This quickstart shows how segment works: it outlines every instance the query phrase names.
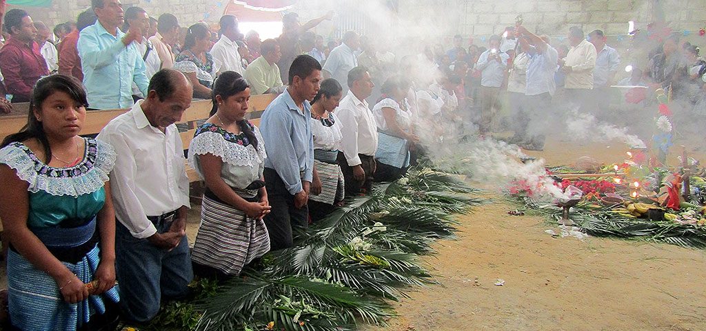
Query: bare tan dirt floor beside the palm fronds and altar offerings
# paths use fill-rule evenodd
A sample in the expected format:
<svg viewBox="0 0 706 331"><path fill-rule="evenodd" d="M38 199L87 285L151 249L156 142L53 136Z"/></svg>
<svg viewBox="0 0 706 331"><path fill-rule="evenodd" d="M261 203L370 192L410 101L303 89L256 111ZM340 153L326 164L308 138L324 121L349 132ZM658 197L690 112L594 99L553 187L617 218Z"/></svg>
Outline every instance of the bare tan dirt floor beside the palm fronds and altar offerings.
<svg viewBox="0 0 706 331"><path fill-rule="evenodd" d="M549 141L528 154L559 165L583 155L618 162L626 150ZM458 217L457 241L436 243L437 254L424 258L439 284L410 292L388 327L364 330L706 330L705 251L554 239L544 217L510 216L516 205L489 197L491 205Z"/></svg>

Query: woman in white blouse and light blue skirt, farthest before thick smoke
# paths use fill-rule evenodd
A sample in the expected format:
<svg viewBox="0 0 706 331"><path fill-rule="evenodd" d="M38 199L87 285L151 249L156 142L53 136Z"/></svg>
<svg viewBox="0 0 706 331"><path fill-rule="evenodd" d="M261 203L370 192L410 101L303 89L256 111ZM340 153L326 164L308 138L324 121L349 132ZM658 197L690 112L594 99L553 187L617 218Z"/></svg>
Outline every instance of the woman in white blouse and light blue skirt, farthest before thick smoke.
<svg viewBox="0 0 706 331"><path fill-rule="evenodd" d="M373 107L373 115L378 124L376 181L394 181L404 176L409 167L409 148L419 143L412 129L412 113L405 107L407 90L404 86L399 76L385 80L381 88L381 100Z"/></svg>

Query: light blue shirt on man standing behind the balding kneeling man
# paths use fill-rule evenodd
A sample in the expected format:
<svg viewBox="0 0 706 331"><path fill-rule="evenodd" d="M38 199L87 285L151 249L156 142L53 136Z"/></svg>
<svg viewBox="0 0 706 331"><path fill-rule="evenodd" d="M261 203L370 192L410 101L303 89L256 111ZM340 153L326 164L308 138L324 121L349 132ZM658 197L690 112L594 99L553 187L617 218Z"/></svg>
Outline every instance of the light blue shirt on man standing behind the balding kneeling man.
<svg viewBox="0 0 706 331"><path fill-rule="evenodd" d="M90 25L78 37L78 56L83 67L83 85L88 92L88 106L96 109L132 107L132 84L147 95L150 84L145 73L145 61L133 42L125 47L125 35L116 35L100 22Z"/></svg>

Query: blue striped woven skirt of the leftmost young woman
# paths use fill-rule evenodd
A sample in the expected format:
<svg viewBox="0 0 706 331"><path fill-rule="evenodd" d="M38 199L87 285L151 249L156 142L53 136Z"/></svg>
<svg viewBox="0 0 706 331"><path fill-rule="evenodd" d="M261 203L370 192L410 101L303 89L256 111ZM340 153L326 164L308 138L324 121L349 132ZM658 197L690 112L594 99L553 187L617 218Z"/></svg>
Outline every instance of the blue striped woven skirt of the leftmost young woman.
<svg viewBox="0 0 706 331"><path fill-rule="evenodd" d="M76 264L62 263L88 284L100 263L100 249L95 246ZM7 282L10 318L20 330L76 330L93 315L105 313L106 300L119 301L117 287L113 287L79 303L66 303L54 278L12 250L7 254Z"/></svg>

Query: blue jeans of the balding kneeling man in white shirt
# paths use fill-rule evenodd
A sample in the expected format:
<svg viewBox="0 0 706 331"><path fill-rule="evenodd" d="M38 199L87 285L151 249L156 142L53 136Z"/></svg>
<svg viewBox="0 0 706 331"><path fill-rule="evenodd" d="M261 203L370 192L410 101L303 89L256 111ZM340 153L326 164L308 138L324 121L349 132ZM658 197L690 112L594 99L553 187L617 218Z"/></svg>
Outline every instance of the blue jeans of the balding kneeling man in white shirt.
<svg viewBox="0 0 706 331"><path fill-rule="evenodd" d="M166 222L155 227L162 234L171 225ZM147 239L133 237L123 224L116 222L115 256L120 308L126 320L148 322L160 312L162 296L179 299L189 294L193 270L186 236L168 252Z"/></svg>

